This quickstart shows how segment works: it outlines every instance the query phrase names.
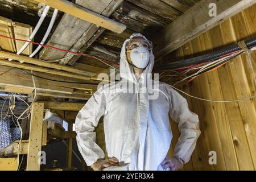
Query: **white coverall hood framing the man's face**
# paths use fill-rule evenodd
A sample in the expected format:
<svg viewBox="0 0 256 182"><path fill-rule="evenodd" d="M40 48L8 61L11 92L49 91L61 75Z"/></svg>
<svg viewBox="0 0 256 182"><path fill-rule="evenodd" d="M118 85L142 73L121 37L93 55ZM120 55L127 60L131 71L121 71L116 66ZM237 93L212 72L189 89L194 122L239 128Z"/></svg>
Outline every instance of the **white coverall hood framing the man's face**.
<svg viewBox="0 0 256 182"><path fill-rule="evenodd" d="M142 35L140 33L134 33L133 35L130 36L129 39L126 39L125 42L123 42L123 47L122 47L122 50L120 53L120 57L121 57L120 58L120 76L122 79L130 80L133 82L137 82L137 80L134 76L133 66L131 64L129 64L127 61L125 47L126 47L127 42L129 42L132 38L137 37L137 36L141 36L142 38L147 40L147 38L144 35ZM141 77L149 77L150 76L150 73L152 72L152 69L154 67L154 63L155 63L155 56L153 55L153 52L151 50L150 51L150 60L148 61L148 65L144 69Z"/></svg>

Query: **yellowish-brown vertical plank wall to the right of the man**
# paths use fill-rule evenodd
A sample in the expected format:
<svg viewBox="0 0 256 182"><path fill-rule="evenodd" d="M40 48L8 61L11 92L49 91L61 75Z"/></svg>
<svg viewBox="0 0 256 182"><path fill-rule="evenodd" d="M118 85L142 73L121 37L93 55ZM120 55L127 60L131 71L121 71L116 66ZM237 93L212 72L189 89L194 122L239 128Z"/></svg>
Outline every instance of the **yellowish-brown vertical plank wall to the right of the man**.
<svg viewBox="0 0 256 182"><path fill-rule="evenodd" d="M256 5L172 52L169 61L194 57L256 36ZM256 72L256 52L251 53ZM163 60L164 63L167 60ZM237 100L256 95L253 72L245 54L216 71L204 73L180 88L209 100ZM185 97L199 114L201 136L185 170L256 169L256 98L241 102L212 103ZM179 132L171 122L175 146ZM172 155L173 147L169 155ZM217 164L210 165L209 151L217 152Z"/></svg>

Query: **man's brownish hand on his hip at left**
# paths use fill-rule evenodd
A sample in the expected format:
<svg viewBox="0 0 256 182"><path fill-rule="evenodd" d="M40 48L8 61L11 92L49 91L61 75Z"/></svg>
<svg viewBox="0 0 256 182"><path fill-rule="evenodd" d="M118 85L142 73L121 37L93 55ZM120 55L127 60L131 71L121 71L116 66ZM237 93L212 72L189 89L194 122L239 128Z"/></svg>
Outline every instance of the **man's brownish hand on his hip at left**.
<svg viewBox="0 0 256 182"><path fill-rule="evenodd" d="M102 171L102 169L110 166L119 166L118 159L115 157L109 159L98 159L95 163L92 164L94 171Z"/></svg>

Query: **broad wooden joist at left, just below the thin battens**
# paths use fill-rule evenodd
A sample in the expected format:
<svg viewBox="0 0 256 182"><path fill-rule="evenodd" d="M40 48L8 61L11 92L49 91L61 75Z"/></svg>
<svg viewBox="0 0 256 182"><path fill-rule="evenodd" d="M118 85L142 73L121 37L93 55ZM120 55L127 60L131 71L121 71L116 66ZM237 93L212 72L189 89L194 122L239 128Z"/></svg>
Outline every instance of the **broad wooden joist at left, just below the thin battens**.
<svg viewBox="0 0 256 182"><path fill-rule="evenodd" d="M35 73L37 76L42 76ZM46 73L44 73L45 77ZM51 77L48 77L51 78ZM77 98L88 100L97 90L97 85L57 82L34 77L36 91L40 96L61 98ZM72 80L71 80L72 81ZM76 81L76 80L73 80ZM3 92L15 92L23 94L34 93L32 77L11 67L0 67L0 90Z"/></svg>

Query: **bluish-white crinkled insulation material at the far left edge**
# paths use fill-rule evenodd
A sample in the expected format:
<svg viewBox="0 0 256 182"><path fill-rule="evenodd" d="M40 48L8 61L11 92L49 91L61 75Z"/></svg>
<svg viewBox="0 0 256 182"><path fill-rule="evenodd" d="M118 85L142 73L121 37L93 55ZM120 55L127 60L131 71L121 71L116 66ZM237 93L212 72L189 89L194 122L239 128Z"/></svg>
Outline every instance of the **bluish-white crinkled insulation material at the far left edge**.
<svg viewBox="0 0 256 182"><path fill-rule="evenodd" d="M10 122L0 122L0 150L11 143Z"/></svg>

